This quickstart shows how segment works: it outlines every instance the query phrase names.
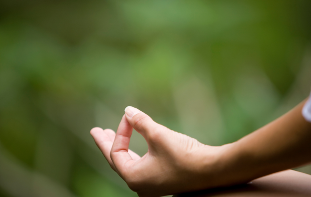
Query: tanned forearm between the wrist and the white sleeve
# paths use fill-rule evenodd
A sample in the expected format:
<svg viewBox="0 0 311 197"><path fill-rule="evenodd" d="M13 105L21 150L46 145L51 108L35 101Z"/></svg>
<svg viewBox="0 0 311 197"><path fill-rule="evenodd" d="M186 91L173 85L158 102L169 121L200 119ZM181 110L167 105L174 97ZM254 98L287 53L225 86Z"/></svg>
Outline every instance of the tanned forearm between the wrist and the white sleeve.
<svg viewBox="0 0 311 197"><path fill-rule="evenodd" d="M263 128L227 146L218 168L233 185L311 162L311 123L302 116L305 101Z"/></svg>

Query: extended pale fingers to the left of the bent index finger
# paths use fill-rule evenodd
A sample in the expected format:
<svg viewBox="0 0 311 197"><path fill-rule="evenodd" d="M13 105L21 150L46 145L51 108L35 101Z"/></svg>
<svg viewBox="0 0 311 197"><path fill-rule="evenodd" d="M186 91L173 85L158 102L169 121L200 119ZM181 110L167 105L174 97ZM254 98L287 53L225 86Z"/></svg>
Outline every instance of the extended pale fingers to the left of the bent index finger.
<svg viewBox="0 0 311 197"><path fill-rule="evenodd" d="M113 140L111 139L111 136L114 135L112 134L112 132L114 131L109 130L109 129L102 130L101 128L98 128L98 127L95 127L90 131L92 137L94 138L96 145L103 153L104 157L110 164L111 168L113 168L116 171L116 167L110 157L110 152L111 152L111 148L113 145Z"/></svg>

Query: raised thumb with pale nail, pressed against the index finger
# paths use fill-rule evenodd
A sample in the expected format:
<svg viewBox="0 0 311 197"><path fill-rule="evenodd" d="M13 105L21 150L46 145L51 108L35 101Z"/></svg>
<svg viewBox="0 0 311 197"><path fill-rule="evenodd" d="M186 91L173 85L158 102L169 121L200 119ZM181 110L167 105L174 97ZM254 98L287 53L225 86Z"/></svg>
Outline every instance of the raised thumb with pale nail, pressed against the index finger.
<svg viewBox="0 0 311 197"><path fill-rule="evenodd" d="M147 140L153 140L161 136L166 127L157 124L147 114L135 107L128 106L125 108L125 117L128 123Z"/></svg>

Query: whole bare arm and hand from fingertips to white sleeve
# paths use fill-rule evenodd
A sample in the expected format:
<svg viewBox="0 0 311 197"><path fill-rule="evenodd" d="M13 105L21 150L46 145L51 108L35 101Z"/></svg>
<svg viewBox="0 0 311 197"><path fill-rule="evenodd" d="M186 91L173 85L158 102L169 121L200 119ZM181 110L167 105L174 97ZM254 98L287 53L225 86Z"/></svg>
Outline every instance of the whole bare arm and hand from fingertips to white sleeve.
<svg viewBox="0 0 311 197"><path fill-rule="evenodd" d="M117 129L91 135L110 166L139 197L160 197L246 183L311 162L311 123L301 115L305 101L261 129L223 146L208 146L157 124L127 107ZM133 129L149 150L128 149Z"/></svg>

